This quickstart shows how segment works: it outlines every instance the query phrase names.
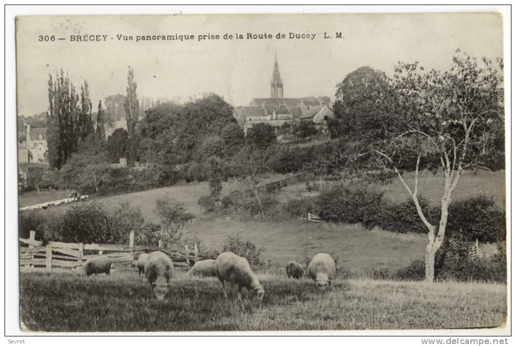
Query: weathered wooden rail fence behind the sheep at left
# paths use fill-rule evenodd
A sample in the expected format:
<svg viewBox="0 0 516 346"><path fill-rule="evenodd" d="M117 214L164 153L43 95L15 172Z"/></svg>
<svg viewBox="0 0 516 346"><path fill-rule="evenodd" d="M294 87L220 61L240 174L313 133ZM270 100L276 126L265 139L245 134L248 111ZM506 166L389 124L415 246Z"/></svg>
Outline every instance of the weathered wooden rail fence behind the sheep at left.
<svg viewBox="0 0 516 346"><path fill-rule="evenodd" d="M36 233L30 231L28 239L19 238L20 243L28 246L20 246L20 266L44 267L47 271L53 268L72 269L82 266L89 258L99 255L111 259L115 268L131 267L135 261L135 251L162 251L170 256L177 269L189 269L190 266L199 260L197 245L192 250L185 246L185 249L165 248L162 241L157 247L146 245L134 245L134 232L129 234L129 245L120 244L83 244L83 243L61 243L50 241L43 246L43 242L35 240ZM96 252L96 253L93 253ZM104 253L106 252L106 253Z"/></svg>

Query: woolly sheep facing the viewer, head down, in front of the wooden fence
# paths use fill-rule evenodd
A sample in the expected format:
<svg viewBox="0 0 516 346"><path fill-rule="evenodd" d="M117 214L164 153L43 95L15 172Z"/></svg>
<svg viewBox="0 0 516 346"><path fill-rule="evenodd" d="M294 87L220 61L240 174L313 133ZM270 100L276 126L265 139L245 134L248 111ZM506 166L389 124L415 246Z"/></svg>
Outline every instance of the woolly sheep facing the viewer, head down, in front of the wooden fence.
<svg viewBox="0 0 516 346"><path fill-rule="evenodd" d="M154 297L157 300L165 299L170 286L170 279L174 275L172 259L161 251L153 251L149 254L144 270L145 276L151 284Z"/></svg>

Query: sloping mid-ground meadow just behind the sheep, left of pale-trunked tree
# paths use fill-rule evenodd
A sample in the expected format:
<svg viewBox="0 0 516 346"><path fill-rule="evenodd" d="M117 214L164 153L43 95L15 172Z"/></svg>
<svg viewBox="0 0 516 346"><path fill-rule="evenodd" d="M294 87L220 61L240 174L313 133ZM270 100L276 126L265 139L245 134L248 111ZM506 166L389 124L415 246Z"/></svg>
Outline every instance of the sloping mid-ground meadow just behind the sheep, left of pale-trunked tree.
<svg viewBox="0 0 516 346"><path fill-rule="evenodd" d="M229 235L239 234L256 246L265 248L263 258L284 268L288 261L301 260L303 250L309 256L330 253L337 266L349 274L386 269L390 273L423 259L428 238L424 234L397 234L367 230L361 225L316 223L307 220L288 222L238 221L229 218L200 220L184 228L197 235L204 245L221 249Z"/></svg>

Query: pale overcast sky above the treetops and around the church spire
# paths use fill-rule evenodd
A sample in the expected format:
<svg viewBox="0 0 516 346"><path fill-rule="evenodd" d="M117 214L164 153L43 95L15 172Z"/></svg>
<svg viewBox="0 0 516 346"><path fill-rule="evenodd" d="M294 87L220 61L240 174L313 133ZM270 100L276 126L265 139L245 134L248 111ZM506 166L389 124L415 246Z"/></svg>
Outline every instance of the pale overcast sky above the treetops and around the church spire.
<svg viewBox="0 0 516 346"><path fill-rule="evenodd" d="M276 39L277 33L286 39ZM289 39L290 32L315 39ZM324 32L332 39L324 39ZM336 39L342 32L343 39ZM223 40L224 33L272 34L264 40ZM39 35L54 42L39 42ZM71 42L71 35L107 35L101 42ZM132 35L119 41L117 34ZM193 34L188 41L135 42L137 35ZM198 41L198 35L219 40ZM66 40L57 40L66 38ZM17 21L18 113L48 108L47 80L62 68L99 99L125 95L127 66L134 68L138 97L180 98L214 92L233 106L270 96L277 54L285 97L330 96L346 74L370 66L392 74L397 61L418 60L447 70L456 48L477 56L503 56L502 17L489 13L41 16Z"/></svg>

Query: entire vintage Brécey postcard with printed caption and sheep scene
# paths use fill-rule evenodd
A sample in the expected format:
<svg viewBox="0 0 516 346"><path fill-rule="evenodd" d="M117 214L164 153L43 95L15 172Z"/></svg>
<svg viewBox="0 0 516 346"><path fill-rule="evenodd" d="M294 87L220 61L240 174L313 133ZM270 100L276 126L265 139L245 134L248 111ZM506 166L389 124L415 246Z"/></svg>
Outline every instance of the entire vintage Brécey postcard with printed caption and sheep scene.
<svg viewBox="0 0 516 346"><path fill-rule="evenodd" d="M20 331L510 333L507 20L16 16Z"/></svg>

